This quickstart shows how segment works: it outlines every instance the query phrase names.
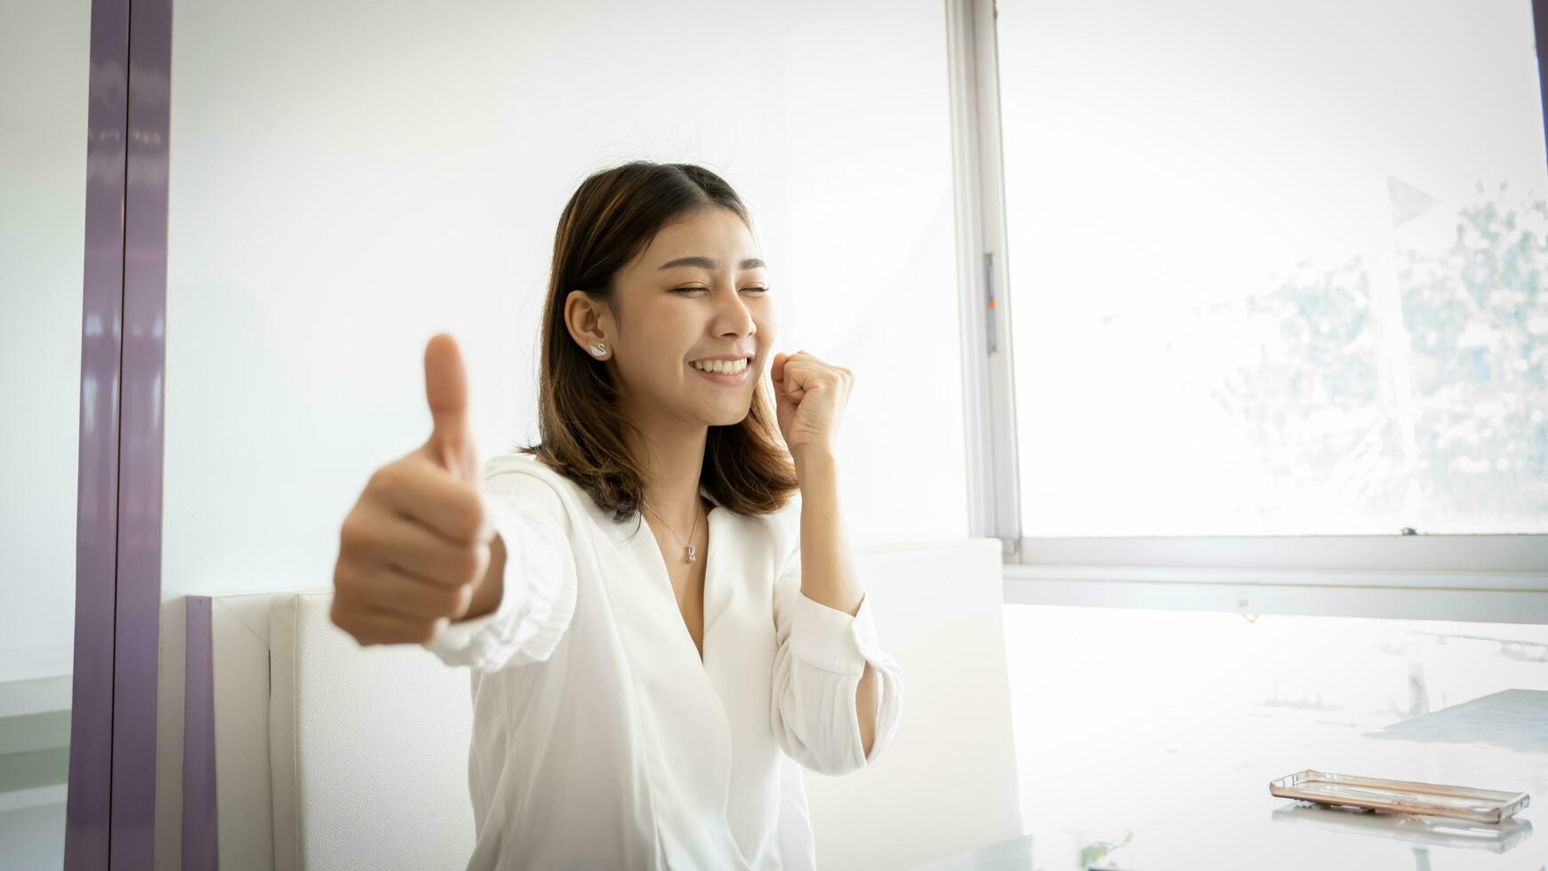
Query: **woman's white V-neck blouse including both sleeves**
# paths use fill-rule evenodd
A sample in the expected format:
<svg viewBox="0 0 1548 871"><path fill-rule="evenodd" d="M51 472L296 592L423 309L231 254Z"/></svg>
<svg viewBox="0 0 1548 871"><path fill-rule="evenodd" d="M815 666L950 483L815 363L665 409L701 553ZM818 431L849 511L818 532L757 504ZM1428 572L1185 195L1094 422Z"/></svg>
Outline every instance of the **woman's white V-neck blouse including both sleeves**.
<svg viewBox="0 0 1548 871"><path fill-rule="evenodd" d="M902 670L870 594L850 614L800 591L800 497L709 512L704 659L642 521L615 521L539 459L483 464L506 546L495 611L424 647L469 665L474 869L811 869L800 772L892 743ZM706 494L706 498L707 494ZM878 671L864 755L854 693Z"/></svg>

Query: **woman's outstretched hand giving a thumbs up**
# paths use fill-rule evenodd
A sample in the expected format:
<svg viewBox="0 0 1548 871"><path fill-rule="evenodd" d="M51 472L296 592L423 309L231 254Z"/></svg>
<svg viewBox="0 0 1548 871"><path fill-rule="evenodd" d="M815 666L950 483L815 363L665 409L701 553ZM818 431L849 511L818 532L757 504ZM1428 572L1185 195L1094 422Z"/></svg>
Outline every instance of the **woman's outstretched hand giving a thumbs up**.
<svg viewBox="0 0 1548 871"><path fill-rule="evenodd" d="M330 619L362 647L424 644L500 602L505 543L489 524L467 421L467 374L447 334L424 350L429 441L378 469L344 518Z"/></svg>

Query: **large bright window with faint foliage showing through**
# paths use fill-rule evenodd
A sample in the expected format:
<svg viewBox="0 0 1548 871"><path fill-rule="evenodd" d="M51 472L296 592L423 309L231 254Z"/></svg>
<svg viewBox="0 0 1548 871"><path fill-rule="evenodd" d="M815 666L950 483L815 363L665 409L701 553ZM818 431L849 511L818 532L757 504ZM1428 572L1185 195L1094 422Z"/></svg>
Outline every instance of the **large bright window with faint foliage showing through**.
<svg viewBox="0 0 1548 871"><path fill-rule="evenodd" d="M1529 3L966 5L1008 574L1548 591Z"/></svg>

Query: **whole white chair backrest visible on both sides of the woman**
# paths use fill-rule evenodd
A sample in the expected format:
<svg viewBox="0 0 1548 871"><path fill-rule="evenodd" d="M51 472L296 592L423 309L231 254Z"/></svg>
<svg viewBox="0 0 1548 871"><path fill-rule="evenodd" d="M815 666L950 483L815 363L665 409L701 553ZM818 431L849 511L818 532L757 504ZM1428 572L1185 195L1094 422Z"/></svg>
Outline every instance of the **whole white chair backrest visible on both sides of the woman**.
<svg viewBox="0 0 1548 871"><path fill-rule="evenodd" d="M856 565L907 695L875 767L800 769L817 866L902 868L1020 834L998 541ZM362 650L330 603L328 589L215 597L220 866L464 868L467 671L413 645Z"/></svg>

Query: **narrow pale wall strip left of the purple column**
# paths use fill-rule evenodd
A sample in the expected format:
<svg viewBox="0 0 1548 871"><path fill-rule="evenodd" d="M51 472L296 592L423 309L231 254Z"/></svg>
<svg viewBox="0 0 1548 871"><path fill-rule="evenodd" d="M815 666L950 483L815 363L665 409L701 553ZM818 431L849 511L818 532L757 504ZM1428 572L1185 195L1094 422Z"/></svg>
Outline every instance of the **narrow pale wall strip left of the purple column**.
<svg viewBox="0 0 1548 871"><path fill-rule="evenodd" d="M91 3L0 3L0 684L68 675Z"/></svg>

